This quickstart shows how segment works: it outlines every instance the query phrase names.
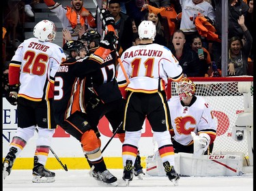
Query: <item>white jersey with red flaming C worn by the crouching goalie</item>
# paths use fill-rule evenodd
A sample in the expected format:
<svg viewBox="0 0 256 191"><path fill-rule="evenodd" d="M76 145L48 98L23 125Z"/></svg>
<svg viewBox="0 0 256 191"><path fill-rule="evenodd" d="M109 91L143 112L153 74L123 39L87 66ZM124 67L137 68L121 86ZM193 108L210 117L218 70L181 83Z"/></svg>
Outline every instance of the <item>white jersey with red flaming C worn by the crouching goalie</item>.
<svg viewBox="0 0 256 191"><path fill-rule="evenodd" d="M203 133L216 134L216 124L212 109L203 97L198 97L195 103L183 106L179 97L171 97L168 100L168 106L171 115L171 125L174 130L175 141L182 145L188 145L193 141L191 132L196 134L199 131Z"/></svg>

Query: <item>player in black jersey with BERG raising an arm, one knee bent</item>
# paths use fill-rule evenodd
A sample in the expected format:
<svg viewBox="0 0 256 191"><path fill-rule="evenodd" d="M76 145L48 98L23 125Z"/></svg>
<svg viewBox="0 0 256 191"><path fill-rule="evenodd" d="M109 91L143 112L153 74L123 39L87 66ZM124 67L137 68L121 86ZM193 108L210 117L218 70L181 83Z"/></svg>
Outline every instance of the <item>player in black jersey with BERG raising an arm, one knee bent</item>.
<svg viewBox="0 0 256 191"><path fill-rule="evenodd" d="M65 44L63 50L68 51L70 59L61 63L55 75L53 107L57 124L80 141L89 162L94 165L96 179L117 186L117 178L106 169L100 150L100 139L85 114L85 107L91 97L86 91L87 76L100 69L104 59L111 52L114 39L113 31L109 30L104 40L100 41L99 48L90 56L85 56L85 47L79 41L68 41ZM74 58L72 53L75 51L82 57Z"/></svg>

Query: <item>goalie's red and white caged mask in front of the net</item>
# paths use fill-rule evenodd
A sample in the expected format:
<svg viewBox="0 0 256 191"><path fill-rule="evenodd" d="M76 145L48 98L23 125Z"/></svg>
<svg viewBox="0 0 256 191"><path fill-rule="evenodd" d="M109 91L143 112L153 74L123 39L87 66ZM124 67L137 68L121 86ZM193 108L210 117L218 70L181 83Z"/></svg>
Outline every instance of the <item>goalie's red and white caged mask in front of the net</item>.
<svg viewBox="0 0 256 191"><path fill-rule="evenodd" d="M176 89L180 100L185 100L195 94L195 84L187 77L183 77L179 82L177 82Z"/></svg>

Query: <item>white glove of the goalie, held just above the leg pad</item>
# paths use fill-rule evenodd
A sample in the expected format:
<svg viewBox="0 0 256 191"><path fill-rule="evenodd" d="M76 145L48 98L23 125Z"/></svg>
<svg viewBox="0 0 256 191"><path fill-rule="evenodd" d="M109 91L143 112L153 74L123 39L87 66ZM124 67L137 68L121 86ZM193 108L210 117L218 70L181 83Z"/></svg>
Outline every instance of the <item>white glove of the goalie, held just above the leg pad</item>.
<svg viewBox="0 0 256 191"><path fill-rule="evenodd" d="M210 136L206 133L200 133L199 135L195 135L194 132L191 132L191 136L194 140L194 156L199 157L202 156L205 151L208 149L210 144Z"/></svg>

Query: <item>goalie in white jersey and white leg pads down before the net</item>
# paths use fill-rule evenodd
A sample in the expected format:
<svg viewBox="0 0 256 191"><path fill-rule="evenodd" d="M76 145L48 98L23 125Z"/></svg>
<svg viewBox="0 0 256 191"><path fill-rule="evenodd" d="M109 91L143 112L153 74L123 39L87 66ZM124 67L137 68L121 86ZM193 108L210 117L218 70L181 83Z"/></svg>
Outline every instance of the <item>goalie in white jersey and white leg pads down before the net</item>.
<svg viewBox="0 0 256 191"><path fill-rule="evenodd" d="M195 95L192 80L184 77L175 88L178 96L171 97L168 105L177 172L185 176L241 175L242 154L212 154L216 138L214 116L205 99ZM156 149L146 158L146 173L165 176L158 147L153 143Z"/></svg>

